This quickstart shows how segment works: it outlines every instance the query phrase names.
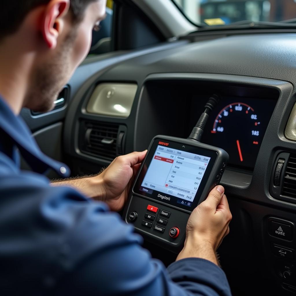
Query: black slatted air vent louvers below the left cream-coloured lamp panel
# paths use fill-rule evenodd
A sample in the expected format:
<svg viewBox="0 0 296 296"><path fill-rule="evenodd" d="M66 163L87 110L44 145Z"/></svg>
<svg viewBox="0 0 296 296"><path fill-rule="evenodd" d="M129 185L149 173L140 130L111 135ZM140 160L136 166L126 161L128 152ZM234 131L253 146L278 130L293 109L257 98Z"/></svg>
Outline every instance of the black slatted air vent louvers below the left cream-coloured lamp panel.
<svg viewBox="0 0 296 296"><path fill-rule="evenodd" d="M81 150L107 160L117 156L117 138L119 125L106 122L83 121L80 133Z"/></svg>

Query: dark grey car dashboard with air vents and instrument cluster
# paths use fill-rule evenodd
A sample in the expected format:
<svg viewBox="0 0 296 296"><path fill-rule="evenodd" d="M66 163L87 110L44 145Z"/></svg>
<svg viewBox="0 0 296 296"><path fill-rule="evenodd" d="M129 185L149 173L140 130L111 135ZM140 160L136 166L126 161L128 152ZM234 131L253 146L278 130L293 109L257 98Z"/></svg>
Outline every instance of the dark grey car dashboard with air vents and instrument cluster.
<svg viewBox="0 0 296 296"><path fill-rule="evenodd" d="M202 142L230 155L221 185L233 219L218 250L221 266L240 295L254 294L257 285L258 295L290 295L296 291L296 139L286 137L292 129L286 125L295 104L295 56L295 34L262 33L176 41L90 73L86 61L69 83L78 75L82 81L64 124L73 176L142 151L157 134L187 138L207 99L219 94ZM174 258L155 245L149 249L166 264Z"/></svg>

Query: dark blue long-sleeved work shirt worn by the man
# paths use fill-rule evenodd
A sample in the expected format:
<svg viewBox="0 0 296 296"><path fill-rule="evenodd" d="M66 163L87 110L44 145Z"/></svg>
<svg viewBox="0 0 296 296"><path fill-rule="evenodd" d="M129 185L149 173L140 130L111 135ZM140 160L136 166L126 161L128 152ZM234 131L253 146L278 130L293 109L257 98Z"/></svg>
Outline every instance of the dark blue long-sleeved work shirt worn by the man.
<svg viewBox="0 0 296 296"><path fill-rule="evenodd" d="M33 172L20 170L19 153ZM118 213L50 186L48 169L69 175L0 98L1 295L231 295L221 268L187 258L166 269Z"/></svg>

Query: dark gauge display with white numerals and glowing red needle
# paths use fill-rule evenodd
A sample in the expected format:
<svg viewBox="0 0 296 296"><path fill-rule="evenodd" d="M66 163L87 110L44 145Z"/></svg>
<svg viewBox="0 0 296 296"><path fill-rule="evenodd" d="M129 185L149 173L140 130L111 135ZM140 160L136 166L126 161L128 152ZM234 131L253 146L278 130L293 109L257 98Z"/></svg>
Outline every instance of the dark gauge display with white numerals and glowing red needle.
<svg viewBox="0 0 296 296"><path fill-rule="evenodd" d="M222 97L202 142L228 152L228 167L253 170L275 105L273 99Z"/></svg>

